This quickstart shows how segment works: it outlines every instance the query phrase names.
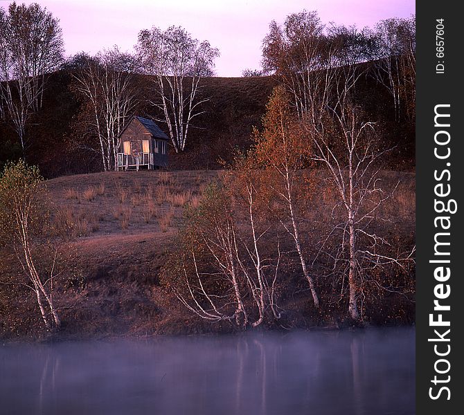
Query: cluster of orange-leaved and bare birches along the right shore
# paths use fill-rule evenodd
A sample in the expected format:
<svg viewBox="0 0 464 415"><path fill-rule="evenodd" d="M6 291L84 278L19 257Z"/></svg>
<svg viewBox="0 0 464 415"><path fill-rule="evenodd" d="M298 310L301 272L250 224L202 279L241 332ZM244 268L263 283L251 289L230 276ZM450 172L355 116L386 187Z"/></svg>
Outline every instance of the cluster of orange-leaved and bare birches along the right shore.
<svg viewBox="0 0 464 415"><path fill-rule="evenodd" d="M379 228L382 203L398 183L382 185L381 136L347 89L340 91L337 107L323 109L314 126L277 86L253 147L188 211L180 277L166 268L165 281L195 315L242 329L281 324L281 302L296 289L283 269L290 262L307 284L313 315L327 313L337 291L356 323L368 313L366 298L411 293L413 247L393 247ZM318 172L332 188L319 218L311 212ZM329 265L323 273L321 262Z"/></svg>

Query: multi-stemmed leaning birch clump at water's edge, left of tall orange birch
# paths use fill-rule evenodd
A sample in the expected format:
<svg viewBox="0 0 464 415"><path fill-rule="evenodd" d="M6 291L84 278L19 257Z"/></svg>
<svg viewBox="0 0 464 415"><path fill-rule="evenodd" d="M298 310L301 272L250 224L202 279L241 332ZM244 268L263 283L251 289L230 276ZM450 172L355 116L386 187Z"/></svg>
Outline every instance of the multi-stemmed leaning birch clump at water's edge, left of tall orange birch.
<svg viewBox="0 0 464 415"><path fill-rule="evenodd" d="M213 184L199 208L190 210L183 232L185 253L181 264L169 264L166 279L195 315L209 322L232 322L244 329L259 326L268 315L280 317L276 304L280 250L278 247L274 261L262 253L253 199L251 208L247 205L247 211L242 212L251 218L250 226L240 229L231 196L225 186ZM250 232L251 238L247 237ZM176 268L177 277L172 273ZM271 275L269 268L274 269Z"/></svg>

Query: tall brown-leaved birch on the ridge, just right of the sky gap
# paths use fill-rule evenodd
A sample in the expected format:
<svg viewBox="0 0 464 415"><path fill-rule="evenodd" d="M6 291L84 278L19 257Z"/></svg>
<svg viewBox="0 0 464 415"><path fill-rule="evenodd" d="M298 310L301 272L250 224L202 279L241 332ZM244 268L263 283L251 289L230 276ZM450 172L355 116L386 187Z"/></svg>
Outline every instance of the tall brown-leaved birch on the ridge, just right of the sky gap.
<svg viewBox="0 0 464 415"><path fill-rule="evenodd" d="M317 12L288 15L283 25L272 21L262 42L262 65L285 86L299 118L321 121L336 93L337 84L353 77L353 67L376 57L377 42L371 30L355 26L324 25ZM355 80L364 72L357 69ZM356 79L355 79L356 78Z"/></svg>

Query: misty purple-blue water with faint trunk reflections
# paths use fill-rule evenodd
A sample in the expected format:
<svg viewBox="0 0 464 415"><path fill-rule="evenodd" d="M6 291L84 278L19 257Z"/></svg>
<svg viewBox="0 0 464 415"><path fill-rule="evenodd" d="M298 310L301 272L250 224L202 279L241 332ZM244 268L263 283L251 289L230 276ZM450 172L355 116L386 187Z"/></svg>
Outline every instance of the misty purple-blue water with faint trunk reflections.
<svg viewBox="0 0 464 415"><path fill-rule="evenodd" d="M414 329L0 346L0 414L413 414Z"/></svg>

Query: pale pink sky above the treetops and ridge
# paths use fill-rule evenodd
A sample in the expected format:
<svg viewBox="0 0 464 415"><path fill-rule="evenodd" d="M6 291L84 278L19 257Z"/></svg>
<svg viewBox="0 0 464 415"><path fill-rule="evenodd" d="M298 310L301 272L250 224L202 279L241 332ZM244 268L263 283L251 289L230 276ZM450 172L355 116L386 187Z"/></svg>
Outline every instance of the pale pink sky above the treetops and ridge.
<svg viewBox="0 0 464 415"><path fill-rule="evenodd" d="M140 30L182 26L219 48L219 76L240 76L260 68L261 42L271 20L293 12L318 10L324 23L373 26L388 17L415 13L413 0L35 0L60 19L66 55L94 54L114 44L132 51ZM0 0L7 7L12 1Z"/></svg>

